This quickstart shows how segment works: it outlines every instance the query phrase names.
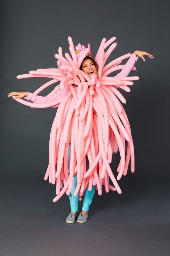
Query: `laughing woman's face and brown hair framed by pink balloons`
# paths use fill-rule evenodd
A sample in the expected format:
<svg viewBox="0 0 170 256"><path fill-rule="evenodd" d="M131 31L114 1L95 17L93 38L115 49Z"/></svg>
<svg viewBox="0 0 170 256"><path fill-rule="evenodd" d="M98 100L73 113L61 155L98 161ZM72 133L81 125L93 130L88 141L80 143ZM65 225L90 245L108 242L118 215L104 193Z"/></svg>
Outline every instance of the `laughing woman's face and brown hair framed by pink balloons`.
<svg viewBox="0 0 170 256"><path fill-rule="evenodd" d="M91 57L85 57L80 69L85 72L90 78L92 76L92 74L96 74L98 77L98 67L97 67L97 63L95 62L95 60Z"/></svg>

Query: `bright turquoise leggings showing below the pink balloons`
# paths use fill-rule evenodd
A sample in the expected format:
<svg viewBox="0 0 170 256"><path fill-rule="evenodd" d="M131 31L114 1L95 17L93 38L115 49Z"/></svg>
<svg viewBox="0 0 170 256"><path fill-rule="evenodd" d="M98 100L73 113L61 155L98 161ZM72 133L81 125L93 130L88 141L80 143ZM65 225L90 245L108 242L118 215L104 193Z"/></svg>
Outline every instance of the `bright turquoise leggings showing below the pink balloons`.
<svg viewBox="0 0 170 256"><path fill-rule="evenodd" d="M70 168L70 144L69 144L69 150L68 150L68 161L69 161L69 168ZM86 157L86 169L87 170L89 168L88 166L89 166L88 159ZM69 195L70 207L71 207L71 211L72 212L77 212L79 210L79 208L78 208L79 193L78 193L77 196L74 196L74 191L76 189L76 186L77 186L77 174L73 177L73 187L72 187L72 191L71 191L71 193ZM85 197L84 197L84 200L83 200L82 210L84 210L84 211L88 211L89 210L89 207L90 207L90 204L92 202L95 190L96 190L96 186L92 186L92 190L91 191L89 191L88 188L86 188L86 190L85 190Z"/></svg>

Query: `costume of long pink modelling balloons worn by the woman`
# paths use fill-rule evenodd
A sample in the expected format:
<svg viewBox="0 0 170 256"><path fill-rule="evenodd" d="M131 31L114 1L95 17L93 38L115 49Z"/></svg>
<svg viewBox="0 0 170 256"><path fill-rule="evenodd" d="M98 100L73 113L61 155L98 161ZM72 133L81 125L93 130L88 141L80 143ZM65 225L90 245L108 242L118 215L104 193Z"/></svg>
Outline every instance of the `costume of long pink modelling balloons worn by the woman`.
<svg viewBox="0 0 170 256"><path fill-rule="evenodd" d="M113 43L115 39L113 37L106 41L103 38L101 41L94 58L98 65L98 77L93 74L89 78L79 69L85 56L90 54L90 47L89 44L88 48L79 44L75 48L71 37L68 38L71 57L68 53L64 57L61 47L55 55L58 68L37 69L17 76L18 79L51 78L33 94L28 93L28 97L25 97L33 103L13 98L31 108L58 107L51 128L49 165L44 177L45 180L49 178L50 183L56 184L56 197L53 202L65 192L70 195L76 175L74 196L79 195L81 200L86 188L91 191L93 186L96 186L99 195L102 194L102 185L106 192L110 189L121 193L117 180L127 174L129 162L131 172L135 171L131 129L121 104L126 103L126 100L117 88L130 92L128 86L133 85L133 80L139 79L137 76L128 77L131 70L136 70L134 63L138 57L129 53L105 65L116 47L116 43ZM129 58L127 63L120 65L126 58ZM121 72L114 77L108 76L117 70ZM37 96L43 89L59 81L60 84L49 95ZM120 162L116 180L109 164L112 162L112 154L118 150ZM87 169L86 155L89 161ZM109 177L113 185L109 184Z"/></svg>

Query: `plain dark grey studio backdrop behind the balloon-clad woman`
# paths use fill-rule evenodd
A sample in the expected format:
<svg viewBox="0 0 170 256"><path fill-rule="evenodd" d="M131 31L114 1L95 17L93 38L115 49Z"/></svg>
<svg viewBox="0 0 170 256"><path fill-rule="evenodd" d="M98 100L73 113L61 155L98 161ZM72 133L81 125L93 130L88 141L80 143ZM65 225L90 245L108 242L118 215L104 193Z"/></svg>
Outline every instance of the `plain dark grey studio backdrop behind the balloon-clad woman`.
<svg viewBox="0 0 170 256"><path fill-rule="evenodd" d="M47 79L17 80L16 76L37 68L56 67L54 54L58 52L59 46L62 46L63 52L69 51L68 36L72 36L75 45L79 42L84 45L90 43L93 56L102 38L109 39L113 36L116 36L117 47L110 59L133 53L135 50L147 51L154 55L154 59L145 57L145 62L142 59L137 61L137 72L132 71L130 75L137 75L140 80L134 82L130 93L123 92L127 99L124 108L134 139L136 172L129 172L128 176L120 181L120 185L125 193L128 189L131 189L131 195L140 194L142 191L146 197L149 186L153 186L154 191L157 191L161 182L162 187L166 184L168 188L169 1L2 0L0 7L1 184L4 187L4 195L9 199L15 191L20 193L25 191L25 188L26 191L34 190L36 185L31 184L40 181L42 191L45 189L45 193L49 194L42 199L44 193L39 200L44 200L46 205L55 196L54 186L47 185L48 181L43 182L43 177L48 165L49 134L56 108L31 109L9 99L7 94L13 91L34 92L44 84ZM53 87L47 89L41 95L48 94L52 89ZM114 163L112 164L114 169ZM143 185L140 185L141 182ZM15 185L11 187L9 184ZM31 196L34 197L35 194ZM5 201L4 195L2 199ZM8 199L7 202L10 202ZM37 201L36 196L34 200ZM55 204L58 212L61 211L61 202L64 202L62 200L68 198L63 197ZM99 209L99 200L96 199L94 203L96 209ZM117 202L119 200L117 199ZM50 207L51 212L54 211L54 204ZM26 243L23 246L27 248ZM141 248L143 247L144 245L141 245ZM5 251L4 249L3 253ZM8 252L7 255L19 254L16 250L16 254ZM34 254L30 251L28 255L38 255L38 252ZM41 255L44 254L41 252ZM86 255L85 252L82 255ZM133 255L131 250L129 255ZM159 252L159 255L166 254Z"/></svg>

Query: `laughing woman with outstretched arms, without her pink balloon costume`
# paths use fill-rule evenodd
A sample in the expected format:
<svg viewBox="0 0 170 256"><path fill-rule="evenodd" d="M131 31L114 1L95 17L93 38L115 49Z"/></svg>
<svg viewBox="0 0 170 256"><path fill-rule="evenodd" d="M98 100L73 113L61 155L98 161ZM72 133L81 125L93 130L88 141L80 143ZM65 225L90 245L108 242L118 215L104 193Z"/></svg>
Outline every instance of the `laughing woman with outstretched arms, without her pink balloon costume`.
<svg viewBox="0 0 170 256"><path fill-rule="evenodd" d="M137 59L139 57L141 57L142 60L145 61L143 58L143 55L147 55L150 59L153 58L153 55L146 53L144 51L135 51L131 55L131 57L128 60L128 62L126 63L126 65L123 67L122 71L120 73L118 73L117 76L115 76L115 77L127 77L131 71L132 66L134 65L134 63L137 61ZM93 74L95 74L98 78L97 63L95 62L94 59L92 59L89 56L84 58L83 62L81 63L81 66L80 66L80 70L82 70L90 79L92 78ZM74 87L75 91L77 91L77 85L73 85L73 87ZM12 97L12 96L15 96L15 98L25 97L26 100L28 100L28 101L30 100L35 104L44 104L44 103L54 102L60 98L63 98L64 95L66 94L67 90L69 90L68 87L66 87L66 89L64 89L64 90L60 90L60 91L54 93L53 95L47 96L47 97L37 96L35 94L31 94L28 92L12 92L12 93L8 94L8 97ZM58 107L59 104L56 106ZM71 146L69 143L69 149L68 149L69 169L70 169L70 150L71 150ZM85 160L86 160L86 170L88 170L89 165L88 165L87 155L85 156ZM67 223L74 223L75 219L76 219L77 212L78 212L79 193L77 193L76 196L74 195L76 186L77 186L77 174L75 174L73 177L72 190L69 194L71 212L66 219ZM89 206L91 204L93 195L95 193L95 189L96 189L96 185L92 185L90 191L89 191L88 187L85 189L85 197L84 197L84 201L83 201L82 211L77 218L78 223L83 223L88 219L88 210L89 210Z"/></svg>

